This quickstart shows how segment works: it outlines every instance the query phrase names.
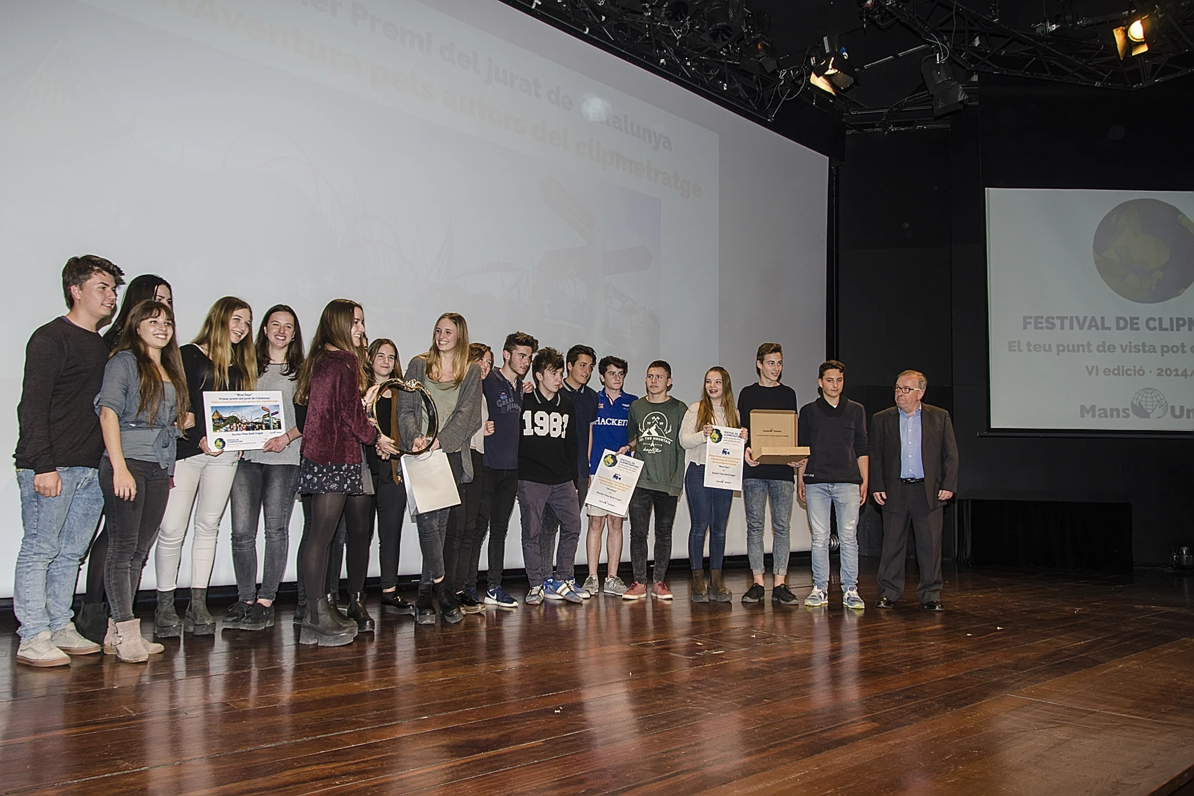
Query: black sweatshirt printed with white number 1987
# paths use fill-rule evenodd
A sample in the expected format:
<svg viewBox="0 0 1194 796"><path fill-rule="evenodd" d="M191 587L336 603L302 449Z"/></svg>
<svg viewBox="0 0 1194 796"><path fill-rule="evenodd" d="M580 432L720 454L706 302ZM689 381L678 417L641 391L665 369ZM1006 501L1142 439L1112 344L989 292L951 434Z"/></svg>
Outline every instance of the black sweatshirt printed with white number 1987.
<svg viewBox="0 0 1194 796"><path fill-rule="evenodd" d="M577 480L577 411L562 390L552 400L537 389L523 396L518 480L549 485Z"/></svg>

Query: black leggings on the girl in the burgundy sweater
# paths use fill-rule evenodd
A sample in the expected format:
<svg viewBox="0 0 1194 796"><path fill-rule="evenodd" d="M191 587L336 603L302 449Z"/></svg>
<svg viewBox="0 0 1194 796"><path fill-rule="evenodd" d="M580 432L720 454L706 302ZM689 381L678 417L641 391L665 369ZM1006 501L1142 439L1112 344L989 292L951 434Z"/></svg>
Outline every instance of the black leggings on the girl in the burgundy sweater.
<svg viewBox="0 0 1194 796"><path fill-rule="evenodd" d="M371 504L373 495L349 495L343 492L310 496L310 537L302 554L303 587L308 605L325 596L327 555L341 513L347 525L345 557L349 563L349 591L364 591L369 572L369 545L373 542L373 523L369 522Z"/></svg>

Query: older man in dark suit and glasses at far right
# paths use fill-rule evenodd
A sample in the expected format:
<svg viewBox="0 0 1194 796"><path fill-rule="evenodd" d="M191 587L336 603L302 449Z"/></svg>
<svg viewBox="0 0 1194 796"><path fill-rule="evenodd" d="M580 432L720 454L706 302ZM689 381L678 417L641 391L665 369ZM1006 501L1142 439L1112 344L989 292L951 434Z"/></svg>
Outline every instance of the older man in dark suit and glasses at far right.
<svg viewBox="0 0 1194 796"><path fill-rule="evenodd" d="M941 604L941 519L958 490L958 443L949 413L922 403L928 381L917 370L896 380L896 406L870 420L870 489L884 512L884 551L879 562L879 601L890 609L904 593L907 524L916 532L925 611Z"/></svg>

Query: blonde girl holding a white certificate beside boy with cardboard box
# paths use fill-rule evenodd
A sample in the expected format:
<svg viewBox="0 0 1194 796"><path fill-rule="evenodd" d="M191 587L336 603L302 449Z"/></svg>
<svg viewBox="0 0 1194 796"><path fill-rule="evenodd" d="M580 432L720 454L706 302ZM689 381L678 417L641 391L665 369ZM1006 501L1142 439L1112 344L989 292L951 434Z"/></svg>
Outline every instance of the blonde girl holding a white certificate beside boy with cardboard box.
<svg viewBox="0 0 1194 796"><path fill-rule="evenodd" d="M704 374L701 400L695 401L684 413L679 426L679 444L685 455L684 494L688 495L688 513L693 525L688 531L688 561L693 568L694 603L728 603L733 594L721 581L721 564L726 556L726 524L734 493L704 486L704 446L714 426L738 428L746 439L746 430L740 427L738 409L734 407L734 388L725 368L710 368ZM704 535L709 535L709 584L704 582Z"/></svg>

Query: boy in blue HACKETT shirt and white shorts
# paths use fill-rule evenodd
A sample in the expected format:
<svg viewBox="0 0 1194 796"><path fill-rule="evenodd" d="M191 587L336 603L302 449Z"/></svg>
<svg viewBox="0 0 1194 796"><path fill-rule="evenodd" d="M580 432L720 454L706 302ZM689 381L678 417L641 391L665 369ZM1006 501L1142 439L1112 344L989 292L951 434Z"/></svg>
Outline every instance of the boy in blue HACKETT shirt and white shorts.
<svg viewBox="0 0 1194 796"><path fill-rule="evenodd" d="M624 453L629 446L630 405L639 396L622 391L626 383L627 364L620 357L602 357L597 363L597 375L602 389L597 393L597 416L589 426L589 465L587 475L592 476L601 465L601 457L607 449ZM605 594L621 597L628 588L617 576L617 567L622 562L622 520L624 517L610 514L604 508L587 506L589 535L585 537L585 553L589 560L589 578L584 588L590 594L597 593L597 564L601 562L601 532L608 527L605 536Z"/></svg>

